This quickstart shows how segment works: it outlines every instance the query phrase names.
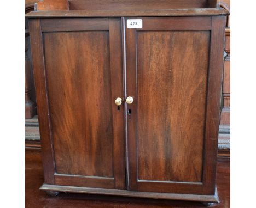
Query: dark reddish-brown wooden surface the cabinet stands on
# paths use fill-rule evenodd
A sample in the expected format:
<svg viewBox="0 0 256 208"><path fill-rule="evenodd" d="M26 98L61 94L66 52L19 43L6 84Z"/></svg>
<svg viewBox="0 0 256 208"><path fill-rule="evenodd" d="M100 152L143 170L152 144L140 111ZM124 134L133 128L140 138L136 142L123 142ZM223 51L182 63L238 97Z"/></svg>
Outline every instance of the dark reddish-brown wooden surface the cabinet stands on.
<svg viewBox="0 0 256 208"><path fill-rule="evenodd" d="M28 207L90 207L90 208L164 208L164 207L205 207L201 203L134 199L125 197L109 197L102 195L60 193L57 197L50 197L44 191L39 191L43 183L43 168L40 151L26 150L26 208ZM220 204L211 207L230 207L230 160L218 158L217 188Z"/></svg>

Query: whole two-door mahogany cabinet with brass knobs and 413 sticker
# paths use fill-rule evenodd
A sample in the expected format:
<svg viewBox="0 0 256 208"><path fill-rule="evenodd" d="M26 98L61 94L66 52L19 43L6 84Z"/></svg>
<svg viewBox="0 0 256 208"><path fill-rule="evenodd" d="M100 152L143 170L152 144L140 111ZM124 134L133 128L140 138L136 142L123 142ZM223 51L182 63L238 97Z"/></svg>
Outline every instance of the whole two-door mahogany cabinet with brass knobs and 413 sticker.
<svg viewBox="0 0 256 208"><path fill-rule="evenodd" d="M216 1L47 2L27 15L41 189L218 202L228 11L206 8Z"/></svg>

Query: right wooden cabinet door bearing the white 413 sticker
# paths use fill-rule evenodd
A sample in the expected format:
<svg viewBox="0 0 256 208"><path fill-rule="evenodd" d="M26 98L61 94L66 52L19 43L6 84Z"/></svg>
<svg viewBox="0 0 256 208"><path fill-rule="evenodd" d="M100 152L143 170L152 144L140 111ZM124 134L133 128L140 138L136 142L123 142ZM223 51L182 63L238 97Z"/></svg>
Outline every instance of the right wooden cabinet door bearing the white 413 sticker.
<svg viewBox="0 0 256 208"><path fill-rule="evenodd" d="M137 19L126 25L128 189L214 195L225 17Z"/></svg>

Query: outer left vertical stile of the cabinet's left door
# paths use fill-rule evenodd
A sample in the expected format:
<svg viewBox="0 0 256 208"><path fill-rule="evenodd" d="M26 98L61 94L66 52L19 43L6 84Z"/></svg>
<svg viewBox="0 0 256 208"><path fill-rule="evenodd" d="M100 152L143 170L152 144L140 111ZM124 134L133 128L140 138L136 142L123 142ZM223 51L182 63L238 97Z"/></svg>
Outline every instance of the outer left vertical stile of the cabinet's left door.
<svg viewBox="0 0 256 208"><path fill-rule="evenodd" d="M43 37L40 20L30 20L29 26L34 82L36 87L37 113L40 124L40 138L42 139L42 154L44 155L44 180L48 181L50 184L54 184L55 161L53 145L51 142L50 113L48 105L48 91L45 80Z"/></svg>

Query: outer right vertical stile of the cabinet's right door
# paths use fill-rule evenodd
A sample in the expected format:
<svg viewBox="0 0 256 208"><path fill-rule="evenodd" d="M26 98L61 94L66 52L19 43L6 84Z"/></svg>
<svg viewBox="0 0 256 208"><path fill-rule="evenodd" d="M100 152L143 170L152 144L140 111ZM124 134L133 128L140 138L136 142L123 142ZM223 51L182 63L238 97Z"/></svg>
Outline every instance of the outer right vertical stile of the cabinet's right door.
<svg viewBox="0 0 256 208"><path fill-rule="evenodd" d="M220 97L222 93L223 52L225 16L212 17L211 50L208 75L208 95L205 130L205 161L203 163L203 183L205 193L213 194L216 184L216 163L218 151L218 131L220 120Z"/></svg>

